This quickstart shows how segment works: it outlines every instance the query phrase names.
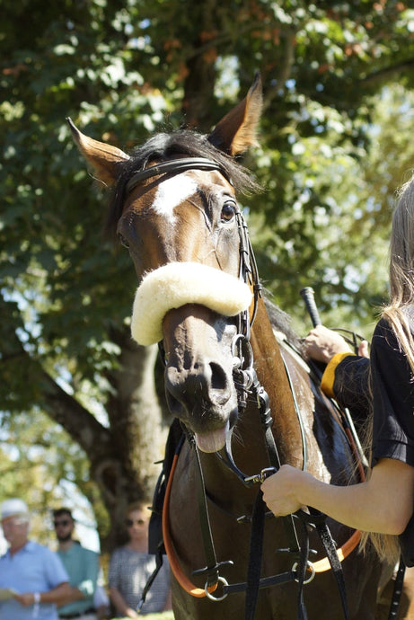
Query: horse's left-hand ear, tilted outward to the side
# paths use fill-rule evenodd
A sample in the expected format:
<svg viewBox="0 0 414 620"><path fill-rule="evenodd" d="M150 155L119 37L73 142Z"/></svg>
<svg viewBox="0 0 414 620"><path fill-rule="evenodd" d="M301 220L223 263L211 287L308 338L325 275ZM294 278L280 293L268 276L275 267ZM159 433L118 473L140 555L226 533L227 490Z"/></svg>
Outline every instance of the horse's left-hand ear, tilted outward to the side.
<svg viewBox="0 0 414 620"><path fill-rule="evenodd" d="M113 185L118 179L120 164L125 164L129 156L116 146L110 146L85 136L75 127L71 119L68 118L66 121L72 131L75 145L88 164L92 166L98 180L109 187Z"/></svg>

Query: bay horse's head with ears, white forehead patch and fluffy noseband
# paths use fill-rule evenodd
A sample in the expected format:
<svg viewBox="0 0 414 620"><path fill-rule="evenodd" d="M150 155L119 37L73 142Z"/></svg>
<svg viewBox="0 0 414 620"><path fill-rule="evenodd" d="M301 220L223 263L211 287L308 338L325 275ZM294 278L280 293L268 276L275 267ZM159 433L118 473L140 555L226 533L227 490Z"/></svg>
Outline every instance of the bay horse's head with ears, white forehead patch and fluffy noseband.
<svg viewBox="0 0 414 620"><path fill-rule="evenodd" d="M131 155L69 120L94 175L113 188L109 224L139 280L132 335L162 343L169 407L205 452L224 446L239 414L235 343L249 330L255 282L236 192L254 182L234 157L255 143L261 101L258 75L208 136L158 134Z"/></svg>

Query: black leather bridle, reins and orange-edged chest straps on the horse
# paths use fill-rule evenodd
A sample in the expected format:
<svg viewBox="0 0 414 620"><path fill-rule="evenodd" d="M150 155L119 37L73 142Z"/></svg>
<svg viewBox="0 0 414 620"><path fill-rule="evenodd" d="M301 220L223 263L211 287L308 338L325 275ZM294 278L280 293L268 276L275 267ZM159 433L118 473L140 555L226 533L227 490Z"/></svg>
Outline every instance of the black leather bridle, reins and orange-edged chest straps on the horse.
<svg viewBox="0 0 414 620"><path fill-rule="evenodd" d="M174 159L171 161L162 162L160 164L151 165L142 171L134 173L131 179L126 185L126 192L129 193L138 184L154 177L155 175L163 173L181 173L187 170L216 170L225 176L225 179L232 183L231 179L226 173L224 167L216 162L206 159L204 157L186 157L182 159ZM233 183L232 183L233 184ZM272 417L269 409L269 396L260 385L259 379L253 368L253 354L250 344L251 325L254 322L256 315L257 305L259 297L261 297L261 286L259 282L257 264L252 251L251 241L249 238L248 228L240 208L236 208L235 217L237 221L239 238L240 238L240 268L239 278L247 283L253 292L253 307L250 314L250 310L242 312L238 315L237 328L238 333L233 339L233 380L237 387L238 392L238 404L239 412L242 412L247 404L247 397L253 395L257 404L260 414L260 421L263 426L264 436L266 441L266 447L269 457L269 467L263 469L259 474L245 475L234 463L231 437L226 441L224 454L216 453L216 456L220 458L222 463L228 467L233 474L237 476L242 484L251 487L254 484L262 483L266 477L277 472L280 467L280 459L277 454L277 446L272 433ZM282 356L283 358L283 356ZM306 442L304 438L304 428L301 420L301 414L299 407L295 400L295 392L289 376L288 368L285 363L286 373L288 376L291 392L295 402L295 411L300 424L301 433L303 437L303 449L304 449L304 468L306 466ZM172 471L169 475L167 489L165 493L165 500L163 505L163 540L167 555L169 557L170 565L174 576L181 584L181 587L185 589L191 596L194 597L207 597L214 601L220 601L226 598L228 594L233 592L246 592L246 608L245 618L246 620L253 620L256 602L258 598L259 589L268 588L269 586L286 583L288 581L295 580L298 582L298 620L305 620L306 610L304 607L303 587L304 584L313 580L315 572L327 571L330 568L333 570L335 578L339 586L339 596L341 598L342 609L344 617L348 620L348 602L345 591L345 583L343 580L342 570L340 562L347 557L349 553L357 546L359 541L360 532L355 532L348 542L343 545L337 552L335 544L330 536L330 532L325 523L325 515L319 511L310 509L307 513L304 510L298 510L295 515L289 515L284 517L284 523L286 527L286 535L288 540L288 548L280 551L293 554L295 562L292 569L286 573L275 575L273 577L267 577L260 579L260 564L262 554L262 542L264 532L264 519L265 508L262 500L261 491L258 492L257 500L253 509L251 517L251 548L249 557L248 576L246 583L229 585L224 577L220 575L220 567L223 564L233 563L231 560L226 562L217 562L216 553L214 549L213 538L211 534L211 528L208 519L207 510L207 493L204 485L203 472L198 456L198 448L195 444L194 438L186 432L186 436L189 439L190 446L194 448L197 464L197 479L198 479L198 513L201 524L201 532L203 538L203 545L206 556L206 567L194 571L193 574L205 574L206 585L204 589L195 587L190 580L181 571L180 563L177 560L172 539L170 536L169 528L169 500L172 488L172 479L177 464L180 449L177 450L173 464ZM271 516L271 513L268 514ZM301 543L299 543L299 536L296 531L296 524L301 526ZM314 527L322 541L322 545L325 548L327 556L319 562L309 561L309 536L308 526ZM310 576L306 576L306 573L310 573ZM220 596L214 596L213 593L217 587L221 585L222 594Z"/></svg>

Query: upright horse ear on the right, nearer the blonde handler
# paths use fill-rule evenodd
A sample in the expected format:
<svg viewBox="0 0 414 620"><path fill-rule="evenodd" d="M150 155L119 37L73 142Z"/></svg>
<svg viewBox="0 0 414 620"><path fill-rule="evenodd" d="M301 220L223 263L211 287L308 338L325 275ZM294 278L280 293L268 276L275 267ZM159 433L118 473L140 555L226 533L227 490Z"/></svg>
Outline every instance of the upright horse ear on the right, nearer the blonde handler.
<svg viewBox="0 0 414 620"><path fill-rule="evenodd" d="M262 102L261 77L257 73L249 93L220 120L208 136L208 141L228 155L239 155L249 146L257 145L256 132Z"/></svg>

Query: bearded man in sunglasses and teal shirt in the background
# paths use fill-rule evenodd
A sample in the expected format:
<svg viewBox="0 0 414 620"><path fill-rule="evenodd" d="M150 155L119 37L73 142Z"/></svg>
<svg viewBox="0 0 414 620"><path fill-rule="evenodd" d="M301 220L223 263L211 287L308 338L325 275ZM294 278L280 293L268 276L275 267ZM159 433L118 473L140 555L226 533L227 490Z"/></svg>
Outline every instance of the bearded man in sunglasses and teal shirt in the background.
<svg viewBox="0 0 414 620"><path fill-rule="evenodd" d="M70 582L70 592L63 606L58 608L59 618L96 620L93 598L100 568L99 555L74 540L75 520L69 509L54 510L53 525L58 542L57 555Z"/></svg>

